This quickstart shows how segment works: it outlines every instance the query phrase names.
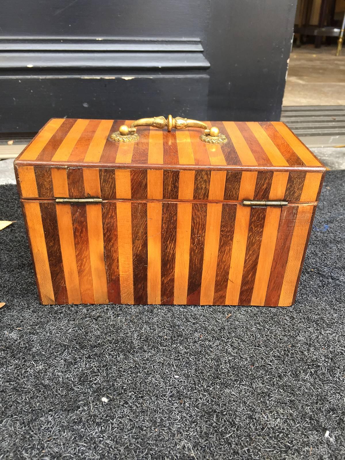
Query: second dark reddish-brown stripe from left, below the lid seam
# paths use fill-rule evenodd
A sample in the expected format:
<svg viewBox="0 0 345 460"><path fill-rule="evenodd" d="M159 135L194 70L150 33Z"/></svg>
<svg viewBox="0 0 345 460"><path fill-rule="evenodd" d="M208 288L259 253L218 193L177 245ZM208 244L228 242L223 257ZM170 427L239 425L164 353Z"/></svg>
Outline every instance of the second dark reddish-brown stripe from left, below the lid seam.
<svg viewBox="0 0 345 460"><path fill-rule="evenodd" d="M81 301L83 304L94 304L86 205L71 205L71 213Z"/></svg>

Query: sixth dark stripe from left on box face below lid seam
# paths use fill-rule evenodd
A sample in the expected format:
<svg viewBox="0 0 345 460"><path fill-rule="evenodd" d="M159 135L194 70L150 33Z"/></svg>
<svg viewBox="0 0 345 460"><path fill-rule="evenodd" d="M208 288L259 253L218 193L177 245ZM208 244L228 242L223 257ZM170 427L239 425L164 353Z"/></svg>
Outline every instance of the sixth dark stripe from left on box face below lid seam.
<svg viewBox="0 0 345 460"><path fill-rule="evenodd" d="M187 305L200 304L201 276L204 259L207 204L194 203L190 232L190 259Z"/></svg>

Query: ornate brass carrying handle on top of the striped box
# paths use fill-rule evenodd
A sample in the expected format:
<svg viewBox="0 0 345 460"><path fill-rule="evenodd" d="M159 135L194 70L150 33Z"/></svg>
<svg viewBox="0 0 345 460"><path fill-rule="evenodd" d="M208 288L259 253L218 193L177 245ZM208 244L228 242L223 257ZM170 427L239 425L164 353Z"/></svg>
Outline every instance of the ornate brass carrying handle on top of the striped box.
<svg viewBox="0 0 345 460"><path fill-rule="evenodd" d="M205 123L202 123L202 121L190 120L189 118L181 118L179 116L173 118L172 115L168 115L167 119L164 116L140 118L139 120L133 121L130 127L121 125L119 131L113 132L110 135L110 139L115 142L134 142L139 138L136 128L138 126L152 126L160 129L167 127L168 132L170 132L172 128L203 128L205 132L200 136L203 142L209 144L225 144L227 141L226 136L220 134L219 129L215 126L209 128Z"/></svg>

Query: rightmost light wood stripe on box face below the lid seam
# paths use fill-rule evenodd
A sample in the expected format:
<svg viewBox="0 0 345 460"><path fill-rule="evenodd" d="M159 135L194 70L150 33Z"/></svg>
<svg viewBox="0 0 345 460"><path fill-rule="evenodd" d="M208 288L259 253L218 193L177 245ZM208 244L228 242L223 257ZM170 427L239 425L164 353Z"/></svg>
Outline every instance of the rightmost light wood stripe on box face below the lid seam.
<svg viewBox="0 0 345 460"><path fill-rule="evenodd" d="M299 206L288 256L288 264L285 269L282 291L279 298L279 306L289 306L293 302L293 293L299 276L299 268L302 263L313 209L313 205Z"/></svg>

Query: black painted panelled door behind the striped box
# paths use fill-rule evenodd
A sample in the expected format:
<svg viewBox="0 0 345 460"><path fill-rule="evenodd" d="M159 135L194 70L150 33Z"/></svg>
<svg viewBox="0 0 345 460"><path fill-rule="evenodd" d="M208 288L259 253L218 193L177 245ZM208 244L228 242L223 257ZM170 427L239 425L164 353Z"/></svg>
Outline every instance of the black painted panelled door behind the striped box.
<svg viewBox="0 0 345 460"><path fill-rule="evenodd" d="M296 0L3 0L0 132L49 118L277 120Z"/></svg>

